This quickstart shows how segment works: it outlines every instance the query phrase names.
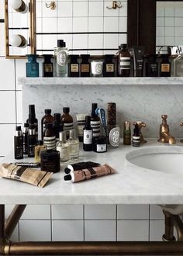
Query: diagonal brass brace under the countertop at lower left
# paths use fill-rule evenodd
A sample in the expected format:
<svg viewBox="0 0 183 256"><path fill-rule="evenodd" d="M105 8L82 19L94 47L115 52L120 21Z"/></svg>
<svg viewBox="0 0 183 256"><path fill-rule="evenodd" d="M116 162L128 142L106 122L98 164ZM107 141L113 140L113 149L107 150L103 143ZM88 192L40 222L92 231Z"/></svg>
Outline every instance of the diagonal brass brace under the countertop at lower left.
<svg viewBox="0 0 183 256"><path fill-rule="evenodd" d="M5 237L10 238L12 236L24 209L26 209L26 205L17 205L12 209L12 213L5 222Z"/></svg>

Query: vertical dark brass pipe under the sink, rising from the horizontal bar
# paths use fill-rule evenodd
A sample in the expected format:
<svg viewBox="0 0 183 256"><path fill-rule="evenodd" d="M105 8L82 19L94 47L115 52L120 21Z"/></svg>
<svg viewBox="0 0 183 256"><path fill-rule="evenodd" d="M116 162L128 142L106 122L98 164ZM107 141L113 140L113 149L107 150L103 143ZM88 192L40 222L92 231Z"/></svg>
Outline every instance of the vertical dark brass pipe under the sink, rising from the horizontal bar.
<svg viewBox="0 0 183 256"><path fill-rule="evenodd" d="M165 211L163 211L163 213L165 229L162 240L164 240L165 242L175 241L176 239L174 237L174 215Z"/></svg>

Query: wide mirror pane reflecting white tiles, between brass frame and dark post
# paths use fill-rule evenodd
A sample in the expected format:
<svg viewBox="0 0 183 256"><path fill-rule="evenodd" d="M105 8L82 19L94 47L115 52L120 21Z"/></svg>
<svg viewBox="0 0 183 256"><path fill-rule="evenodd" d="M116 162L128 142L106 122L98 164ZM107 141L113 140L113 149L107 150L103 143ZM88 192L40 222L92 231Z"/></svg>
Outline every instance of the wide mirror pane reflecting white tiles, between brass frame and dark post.
<svg viewBox="0 0 183 256"><path fill-rule="evenodd" d="M119 32L126 33L127 1L122 1L121 9L107 9L112 2L105 0L63 0L57 1L54 11L45 7L45 2L40 0L36 3L36 16L38 17L37 32L46 33L71 33L65 35L37 36L37 49L53 50L57 46L57 39L64 39L68 49L118 49L120 43L126 43L126 37L119 37ZM88 34L91 32L91 34ZM115 32L116 34L104 34ZM86 34L74 34L86 33ZM93 33L93 34L92 34ZM99 33L99 34L95 34ZM50 38L51 36L51 38ZM83 40L77 41L77 36ZM95 43L94 43L95 40ZM87 54L116 54L116 50L86 51ZM41 54L42 52L39 51ZM83 54L81 51L72 51L71 54Z"/></svg>

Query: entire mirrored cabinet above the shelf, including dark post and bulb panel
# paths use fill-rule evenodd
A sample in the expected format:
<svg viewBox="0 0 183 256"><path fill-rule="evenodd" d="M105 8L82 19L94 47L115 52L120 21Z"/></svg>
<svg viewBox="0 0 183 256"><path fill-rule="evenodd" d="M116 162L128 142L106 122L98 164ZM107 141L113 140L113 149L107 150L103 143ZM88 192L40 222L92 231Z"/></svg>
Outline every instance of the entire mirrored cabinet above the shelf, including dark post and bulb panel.
<svg viewBox="0 0 183 256"><path fill-rule="evenodd" d="M183 31L183 27L182 30L180 26L175 27L178 19L183 19L180 16L181 12L178 12L178 8L180 10L180 6L183 6L183 1L127 0L121 1L121 9L109 10L106 9L105 2L100 0L97 5L92 5L91 12L94 16L90 17L90 22L96 23L95 27L98 27L96 30L90 30L89 24L86 28L83 26L82 23L85 20L88 21L88 13L86 16L83 15L83 10L77 11L78 14L73 17L74 1L55 1L55 9L46 7L45 4L49 5L49 1L23 0L23 2L27 6L26 13L17 12L17 9L12 7L11 1L5 0L5 55L8 58L21 58L26 54L53 53L54 47L57 46L57 39L62 38L68 42L67 47L71 53L93 55L115 53L119 43L128 43L129 47L143 45L148 54L154 54L156 46L163 46L167 43L168 45L183 44L181 41L178 43L178 37L180 40L183 39L183 32L182 37L174 36L174 41L173 36L168 36L172 35L172 29L174 29L174 35ZM81 9L88 10L90 1L80 3ZM107 1L106 4L112 5L112 2ZM95 14L95 11L99 12L99 6L102 8L103 16L101 17ZM63 12L64 16L62 16ZM100 26L99 21L103 22L108 15L112 22L109 19L109 23L106 23L108 26L104 28ZM116 24L114 20L119 22L118 27L112 27L112 24ZM169 23L166 24L166 22ZM57 24L57 29L55 24ZM12 40L14 35L25 38L25 47L12 46L17 43L17 38ZM110 36L113 38L113 44L108 46L104 40L107 42ZM73 43L73 40L76 41L75 45L70 45L69 42Z"/></svg>

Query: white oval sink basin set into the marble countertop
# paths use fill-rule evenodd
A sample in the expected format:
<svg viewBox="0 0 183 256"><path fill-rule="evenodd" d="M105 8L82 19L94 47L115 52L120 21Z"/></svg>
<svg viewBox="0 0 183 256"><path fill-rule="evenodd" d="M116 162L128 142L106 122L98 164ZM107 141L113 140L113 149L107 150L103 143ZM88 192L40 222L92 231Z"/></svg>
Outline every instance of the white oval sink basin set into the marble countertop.
<svg viewBox="0 0 183 256"><path fill-rule="evenodd" d="M126 164L154 171L183 175L183 147L138 148L126 154Z"/></svg>

